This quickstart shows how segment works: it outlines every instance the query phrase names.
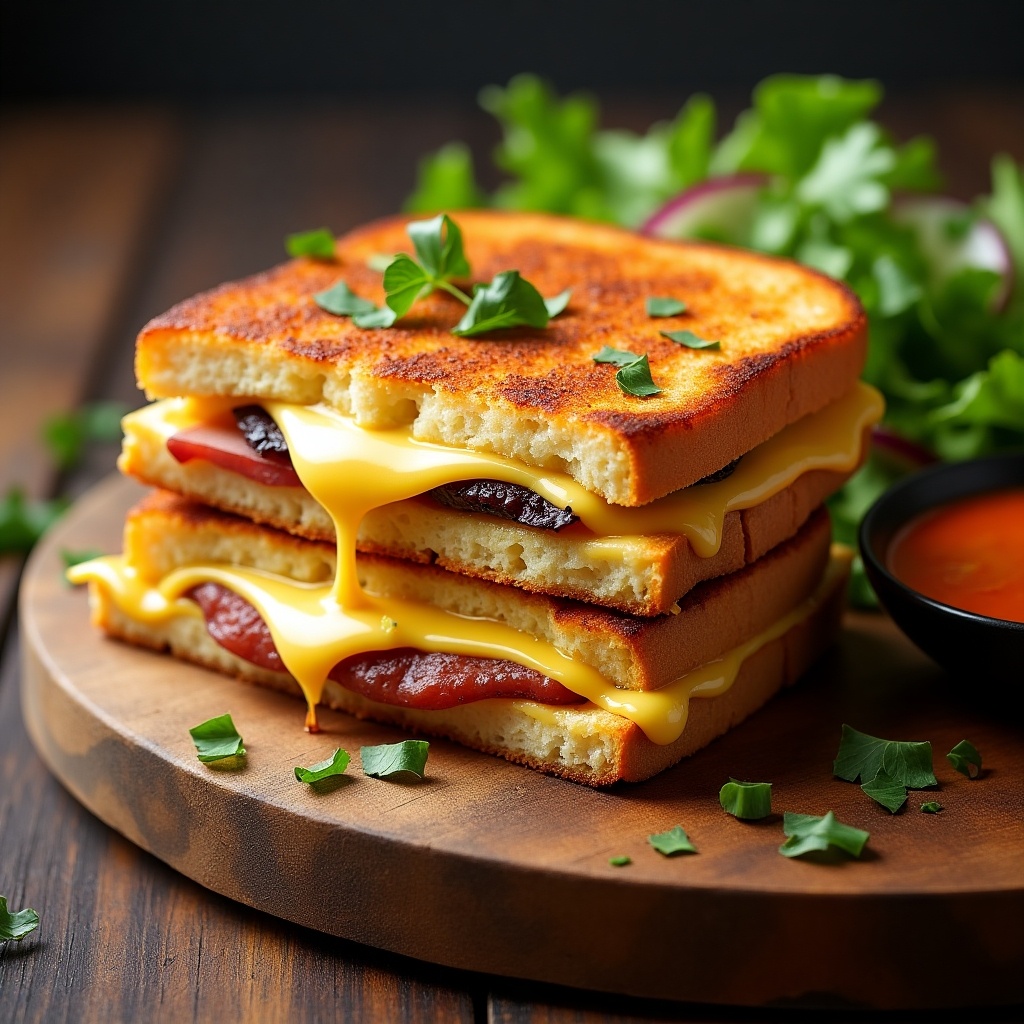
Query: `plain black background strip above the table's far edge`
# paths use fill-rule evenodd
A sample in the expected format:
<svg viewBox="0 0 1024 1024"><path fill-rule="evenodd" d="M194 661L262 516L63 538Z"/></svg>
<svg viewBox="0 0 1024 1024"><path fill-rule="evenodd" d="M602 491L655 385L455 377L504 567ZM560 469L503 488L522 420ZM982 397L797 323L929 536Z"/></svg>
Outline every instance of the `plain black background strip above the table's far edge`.
<svg viewBox="0 0 1024 1024"><path fill-rule="evenodd" d="M521 71L561 90L676 95L745 95L778 71L899 92L1024 81L1019 0L8 0L0 18L7 100L472 96Z"/></svg>

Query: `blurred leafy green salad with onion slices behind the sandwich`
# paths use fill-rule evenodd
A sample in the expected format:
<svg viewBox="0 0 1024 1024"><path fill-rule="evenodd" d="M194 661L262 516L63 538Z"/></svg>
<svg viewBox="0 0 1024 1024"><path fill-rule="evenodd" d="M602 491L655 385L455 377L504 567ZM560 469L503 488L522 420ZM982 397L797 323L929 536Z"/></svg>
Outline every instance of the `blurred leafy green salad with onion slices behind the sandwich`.
<svg viewBox="0 0 1024 1024"><path fill-rule="evenodd" d="M494 159L508 179L486 196L469 151L452 143L421 163L409 209L492 205L639 228L680 193L731 176L745 191L733 189L728 215L672 237L792 257L856 292L870 324L864 376L888 411L882 443L830 502L838 540L855 544L882 490L930 459L1024 443L1024 284L1013 282L1014 268L1024 276L1024 172L1011 158L994 158L990 196L925 196L941 185L932 141L897 143L871 120L882 87L831 75L765 79L718 140L705 95L642 135L601 128L592 97L560 97L529 75L479 98L501 123ZM994 263L978 255L979 231L1004 254ZM858 568L852 596L871 602Z"/></svg>

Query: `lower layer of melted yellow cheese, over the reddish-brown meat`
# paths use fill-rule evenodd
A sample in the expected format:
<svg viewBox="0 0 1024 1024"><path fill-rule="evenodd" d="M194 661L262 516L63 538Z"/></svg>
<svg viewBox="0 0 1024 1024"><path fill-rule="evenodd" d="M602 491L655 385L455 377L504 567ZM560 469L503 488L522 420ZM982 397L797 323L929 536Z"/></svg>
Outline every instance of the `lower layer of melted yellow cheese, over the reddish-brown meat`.
<svg viewBox="0 0 1024 1024"><path fill-rule="evenodd" d="M623 690L588 665L554 645L492 620L470 618L430 605L360 591L358 607L344 607L326 586L300 584L257 569L191 565L159 583L147 582L124 557L112 555L69 570L74 583L92 581L106 589L127 615L157 623L176 615L202 615L185 597L193 587L218 583L256 607L267 624L278 653L305 694L310 711L319 702L328 673L339 662L368 651L414 647L470 656L502 657L556 679L598 708L638 725L655 743L671 743L686 726L693 696L718 696L732 685L743 660L803 622L846 571L852 552L834 546L815 593L767 629L720 658L657 690ZM535 717L542 706L518 703Z"/></svg>

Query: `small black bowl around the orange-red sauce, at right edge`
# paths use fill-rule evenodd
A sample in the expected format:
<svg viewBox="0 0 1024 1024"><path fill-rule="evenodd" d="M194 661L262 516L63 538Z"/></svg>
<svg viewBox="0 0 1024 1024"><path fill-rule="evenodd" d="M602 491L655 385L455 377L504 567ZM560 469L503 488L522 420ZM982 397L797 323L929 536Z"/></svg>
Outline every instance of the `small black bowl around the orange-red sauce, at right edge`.
<svg viewBox="0 0 1024 1024"><path fill-rule="evenodd" d="M967 674L972 684L1017 685L1024 679L1024 623L925 597L889 571L887 552L900 528L922 512L1013 486L1024 486L1024 453L933 466L890 487L860 524L864 568L885 609L926 654L948 672Z"/></svg>

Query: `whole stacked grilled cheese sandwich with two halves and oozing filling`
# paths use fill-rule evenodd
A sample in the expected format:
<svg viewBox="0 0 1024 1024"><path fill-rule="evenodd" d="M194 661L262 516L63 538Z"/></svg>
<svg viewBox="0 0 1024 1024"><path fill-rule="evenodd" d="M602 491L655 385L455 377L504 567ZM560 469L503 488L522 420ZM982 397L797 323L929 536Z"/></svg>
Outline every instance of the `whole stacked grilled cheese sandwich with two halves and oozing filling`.
<svg viewBox="0 0 1024 1024"><path fill-rule="evenodd" d="M414 284L390 326L398 218L146 325L136 372L162 400L126 419L121 468L159 489L124 554L74 579L111 635L301 692L309 728L324 703L593 785L647 778L835 635L822 502L881 415L863 313L755 254L455 220L461 239L441 218L413 236L460 249L462 280ZM453 334L457 296L510 270L564 311Z"/></svg>

